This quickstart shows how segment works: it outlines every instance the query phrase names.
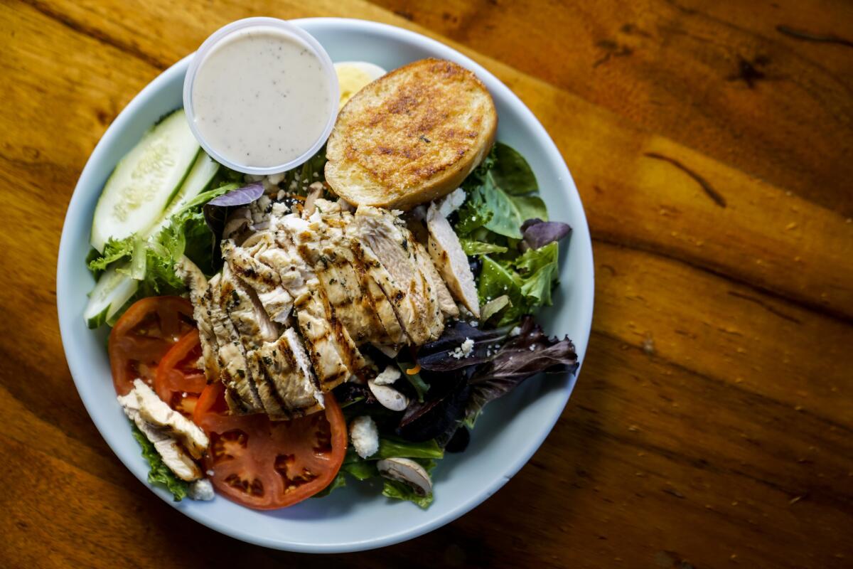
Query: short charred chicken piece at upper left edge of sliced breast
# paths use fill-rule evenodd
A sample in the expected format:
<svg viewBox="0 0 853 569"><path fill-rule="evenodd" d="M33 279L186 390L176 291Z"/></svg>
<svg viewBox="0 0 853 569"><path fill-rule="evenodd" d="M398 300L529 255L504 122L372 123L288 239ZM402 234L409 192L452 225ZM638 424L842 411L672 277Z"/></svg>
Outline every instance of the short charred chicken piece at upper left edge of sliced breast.
<svg viewBox="0 0 853 569"><path fill-rule="evenodd" d="M278 271L253 258L245 248L237 247L234 241L223 240L221 247L225 262L241 281L254 289L270 320L287 322L287 316L293 308L293 298L281 287ZM260 249L261 244L258 243L253 248Z"/></svg>

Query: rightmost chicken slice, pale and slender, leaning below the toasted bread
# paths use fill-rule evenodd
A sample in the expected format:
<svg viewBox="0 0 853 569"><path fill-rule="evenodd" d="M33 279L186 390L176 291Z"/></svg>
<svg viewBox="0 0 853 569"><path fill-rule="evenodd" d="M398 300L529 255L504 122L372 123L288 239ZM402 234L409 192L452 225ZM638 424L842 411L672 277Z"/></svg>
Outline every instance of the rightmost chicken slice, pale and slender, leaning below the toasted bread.
<svg viewBox="0 0 853 569"><path fill-rule="evenodd" d="M441 206L435 202L427 210L427 229L429 229L429 254L438 272L444 277L444 282L450 292L471 313L479 318L479 299L477 286L468 258L462 251L459 237L450 227L450 223L441 214Z"/></svg>

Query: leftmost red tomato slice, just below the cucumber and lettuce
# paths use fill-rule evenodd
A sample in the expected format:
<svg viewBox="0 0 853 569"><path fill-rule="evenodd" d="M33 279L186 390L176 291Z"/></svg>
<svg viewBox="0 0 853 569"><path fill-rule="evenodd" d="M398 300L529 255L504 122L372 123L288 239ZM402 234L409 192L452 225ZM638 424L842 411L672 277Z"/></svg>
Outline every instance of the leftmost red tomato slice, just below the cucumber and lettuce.
<svg viewBox="0 0 853 569"><path fill-rule="evenodd" d="M141 378L154 385L157 366L183 335L195 328L193 305L179 296L152 296L137 300L115 323L109 335L109 362L113 386L119 395Z"/></svg>

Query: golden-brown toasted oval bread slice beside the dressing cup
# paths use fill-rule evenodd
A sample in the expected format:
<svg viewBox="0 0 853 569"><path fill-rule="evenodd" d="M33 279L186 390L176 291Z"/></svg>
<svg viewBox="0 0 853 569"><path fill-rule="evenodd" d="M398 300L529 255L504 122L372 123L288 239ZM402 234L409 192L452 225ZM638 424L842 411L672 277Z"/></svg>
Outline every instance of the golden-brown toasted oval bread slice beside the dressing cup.
<svg viewBox="0 0 853 569"><path fill-rule="evenodd" d="M409 209L458 188L489 153L496 128L495 102L472 72L415 61L341 109L326 181L351 204Z"/></svg>

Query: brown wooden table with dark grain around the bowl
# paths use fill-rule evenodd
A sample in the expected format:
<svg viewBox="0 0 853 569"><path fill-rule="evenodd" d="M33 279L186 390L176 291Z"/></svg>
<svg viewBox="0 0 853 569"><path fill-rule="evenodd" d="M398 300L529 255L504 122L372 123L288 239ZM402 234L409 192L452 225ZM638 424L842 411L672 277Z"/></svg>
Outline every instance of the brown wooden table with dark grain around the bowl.
<svg viewBox="0 0 853 569"><path fill-rule="evenodd" d="M853 4L0 3L0 566L853 565ZM595 244L593 334L531 462L461 520L312 557L207 530L80 404L56 251L107 125L230 20L450 44L554 136Z"/></svg>

